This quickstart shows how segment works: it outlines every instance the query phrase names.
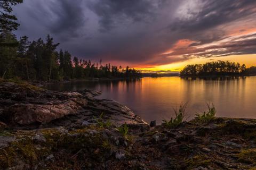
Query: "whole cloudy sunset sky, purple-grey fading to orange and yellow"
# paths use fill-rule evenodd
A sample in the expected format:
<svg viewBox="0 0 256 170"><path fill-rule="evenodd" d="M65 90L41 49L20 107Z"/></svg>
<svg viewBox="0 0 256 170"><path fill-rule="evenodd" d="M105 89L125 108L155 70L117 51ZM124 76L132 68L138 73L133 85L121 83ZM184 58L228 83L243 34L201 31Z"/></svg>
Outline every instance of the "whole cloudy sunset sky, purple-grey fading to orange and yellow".
<svg viewBox="0 0 256 170"><path fill-rule="evenodd" d="M73 56L180 71L225 60L256 65L255 0L23 0L17 37L50 34Z"/></svg>

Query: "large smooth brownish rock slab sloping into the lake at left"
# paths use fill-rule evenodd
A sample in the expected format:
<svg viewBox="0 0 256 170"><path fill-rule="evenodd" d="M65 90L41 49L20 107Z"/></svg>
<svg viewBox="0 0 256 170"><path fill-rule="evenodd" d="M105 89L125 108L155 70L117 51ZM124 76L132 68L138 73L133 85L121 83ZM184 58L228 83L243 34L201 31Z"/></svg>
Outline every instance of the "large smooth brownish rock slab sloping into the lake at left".
<svg viewBox="0 0 256 170"><path fill-rule="evenodd" d="M113 100L96 99L100 91L83 90L60 92L39 89L38 87L0 84L0 115L10 128L25 129L56 126L78 127L90 125L92 116L105 113L106 121L122 125L140 123L140 131L149 126L130 108ZM42 125L41 125L42 124ZM134 128L135 131L135 128Z"/></svg>

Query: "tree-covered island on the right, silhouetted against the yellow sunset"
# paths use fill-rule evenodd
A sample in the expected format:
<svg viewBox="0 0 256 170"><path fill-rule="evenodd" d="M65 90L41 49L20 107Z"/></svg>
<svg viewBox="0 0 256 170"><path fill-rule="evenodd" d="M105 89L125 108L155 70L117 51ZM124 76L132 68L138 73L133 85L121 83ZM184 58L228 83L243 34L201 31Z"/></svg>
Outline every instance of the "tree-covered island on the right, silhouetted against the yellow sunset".
<svg viewBox="0 0 256 170"><path fill-rule="evenodd" d="M256 67L246 68L245 64L229 61L190 64L180 72L181 76L225 76L225 75L256 75Z"/></svg>

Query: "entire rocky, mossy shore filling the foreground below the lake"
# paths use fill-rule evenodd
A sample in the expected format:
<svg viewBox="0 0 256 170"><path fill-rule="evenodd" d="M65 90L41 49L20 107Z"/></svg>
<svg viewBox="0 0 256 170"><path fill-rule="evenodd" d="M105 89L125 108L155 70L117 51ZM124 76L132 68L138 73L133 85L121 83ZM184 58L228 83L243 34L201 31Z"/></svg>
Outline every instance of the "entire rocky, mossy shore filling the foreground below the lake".
<svg viewBox="0 0 256 170"><path fill-rule="evenodd" d="M150 127L100 94L0 83L0 169L256 169L256 120Z"/></svg>

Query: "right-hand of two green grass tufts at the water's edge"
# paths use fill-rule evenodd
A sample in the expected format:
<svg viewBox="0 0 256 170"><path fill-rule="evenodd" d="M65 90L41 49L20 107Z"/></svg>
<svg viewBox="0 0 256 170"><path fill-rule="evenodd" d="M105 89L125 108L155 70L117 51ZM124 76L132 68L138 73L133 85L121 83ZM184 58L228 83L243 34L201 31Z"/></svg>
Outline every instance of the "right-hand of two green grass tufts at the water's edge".
<svg viewBox="0 0 256 170"><path fill-rule="evenodd" d="M213 104L207 103L208 107L208 112L204 112L202 115L201 114L196 114L196 120L202 123L209 123L213 118L215 117L216 114L216 108Z"/></svg>

